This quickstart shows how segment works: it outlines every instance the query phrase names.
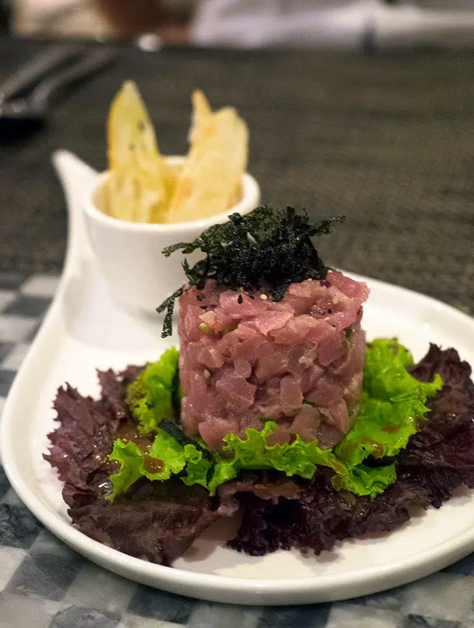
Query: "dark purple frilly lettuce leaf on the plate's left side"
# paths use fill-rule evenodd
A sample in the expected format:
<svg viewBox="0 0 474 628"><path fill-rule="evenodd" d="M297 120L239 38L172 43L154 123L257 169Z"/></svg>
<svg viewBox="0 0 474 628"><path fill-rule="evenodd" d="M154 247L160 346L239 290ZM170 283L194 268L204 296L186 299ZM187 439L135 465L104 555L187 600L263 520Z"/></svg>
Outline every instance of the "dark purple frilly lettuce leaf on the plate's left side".
<svg viewBox="0 0 474 628"><path fill-rule="evenodd" d="M78 530L119 551L169 565L217 518L206 491L178 479L142 481L114 504L104 499L116 471L109 454L117 433L135 431L125 394L142 368L99 372L100 401L68 384L59 389L54 409L60 426L49 434L52 446L44 457L65 482L63 499ZM153 436L140 438L153 442Z"/></svg>

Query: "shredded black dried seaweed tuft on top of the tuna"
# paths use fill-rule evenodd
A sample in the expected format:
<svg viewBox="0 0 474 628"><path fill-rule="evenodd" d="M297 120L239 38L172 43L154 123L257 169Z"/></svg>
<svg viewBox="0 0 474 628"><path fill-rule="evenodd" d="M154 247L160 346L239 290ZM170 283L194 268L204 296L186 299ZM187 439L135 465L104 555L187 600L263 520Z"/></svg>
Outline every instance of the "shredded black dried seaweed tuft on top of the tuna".
<svg viewBox="0 0 474 628"><path fill-rule="evenodd" d="M208 279L231 290L259 290L265 287L273 301L281 301L291 283L305 279L324 279L328 273L311 238L328 234L345 216L310 223L306 211L293 207L273 210L265 205L250 214L232 214L229 221L212 225L192 242L178 242L163 249L168 257L181 249L185 255L200 248L206 254L190 267L183 262L189 284L199 290ZM167 311L162 337L171 335L174 299L185 287L176 290L157 308Z"/></svg>

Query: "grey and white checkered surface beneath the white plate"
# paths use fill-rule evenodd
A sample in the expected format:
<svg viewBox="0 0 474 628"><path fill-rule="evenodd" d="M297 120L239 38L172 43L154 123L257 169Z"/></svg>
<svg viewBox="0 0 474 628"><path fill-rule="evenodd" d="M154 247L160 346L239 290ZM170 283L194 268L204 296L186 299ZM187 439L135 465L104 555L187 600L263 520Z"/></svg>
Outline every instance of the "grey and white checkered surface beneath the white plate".
<svg viewBox="0 0 474 628"><path fill-rule="evenodd" d="M0 412L58 277L0 274ZM474 555L418 583L314 606L208 604L96 567L47 532L0 467L0 628L473 628Z"/></svg>

